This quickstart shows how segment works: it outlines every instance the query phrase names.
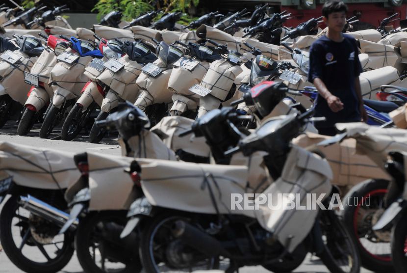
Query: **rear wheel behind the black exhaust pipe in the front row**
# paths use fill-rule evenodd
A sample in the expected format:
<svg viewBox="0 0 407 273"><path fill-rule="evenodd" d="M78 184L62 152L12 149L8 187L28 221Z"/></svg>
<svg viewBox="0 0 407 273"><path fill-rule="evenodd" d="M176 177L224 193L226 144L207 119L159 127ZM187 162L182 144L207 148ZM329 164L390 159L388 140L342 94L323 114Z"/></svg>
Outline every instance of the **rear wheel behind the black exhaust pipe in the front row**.
<svg viewBox="0 0 407 273"><path fill-rule="evenodd" d="M162 214L143 229L139 252L146 272L194 272L229 267L229 259L205 258L174 238L171 227L177 220L190 221L179 215Z"/></svg>

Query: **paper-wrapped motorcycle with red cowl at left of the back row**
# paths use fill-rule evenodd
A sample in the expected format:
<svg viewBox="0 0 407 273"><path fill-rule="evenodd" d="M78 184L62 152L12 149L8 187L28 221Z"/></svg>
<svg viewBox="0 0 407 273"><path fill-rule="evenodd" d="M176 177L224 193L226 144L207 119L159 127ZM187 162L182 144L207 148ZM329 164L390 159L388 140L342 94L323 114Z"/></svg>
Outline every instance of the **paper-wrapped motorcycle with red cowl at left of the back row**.
<svg viewBox="0 0 407 273"><path fill-rule="evenodd" d="M20 136L27 135L35 123L43 120L44 113L50 104L50 98L53 96L53 90L48 85L51 70L56 64L56 57L68 48L67 40L57 39L53 35L48 37L41 33L38 35L46 39L48 49L42 52L30 73L25 77L32 87L28 92L28 99L24 104L23 115L18 124L17 133Z"/></svg>

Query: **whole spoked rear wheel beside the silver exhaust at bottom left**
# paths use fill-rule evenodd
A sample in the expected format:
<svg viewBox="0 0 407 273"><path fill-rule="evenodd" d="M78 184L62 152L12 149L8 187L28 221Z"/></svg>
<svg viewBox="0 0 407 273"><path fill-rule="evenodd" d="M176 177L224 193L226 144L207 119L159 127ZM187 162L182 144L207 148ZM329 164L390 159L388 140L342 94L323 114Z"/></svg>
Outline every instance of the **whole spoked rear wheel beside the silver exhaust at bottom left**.
<svg viewBox="0 0 407 273"><path fill-rule="evenodd" d="M74 254L74 234L31 215L11 196L0 214L0 241L10 261L26 273L55 273Z"/></svg>

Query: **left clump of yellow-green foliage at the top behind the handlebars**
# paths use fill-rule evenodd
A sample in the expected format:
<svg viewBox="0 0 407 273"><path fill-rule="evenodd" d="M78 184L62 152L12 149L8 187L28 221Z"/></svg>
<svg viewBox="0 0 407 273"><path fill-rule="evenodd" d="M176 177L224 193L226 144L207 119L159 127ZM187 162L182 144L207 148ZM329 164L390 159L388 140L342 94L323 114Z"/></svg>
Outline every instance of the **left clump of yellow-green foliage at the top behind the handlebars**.
<svg viewBox="0 0 407 273"><path fill-rule="evenodd" d="M123 12L124 19L130 21L144 12L152 11L154 8L148 3L148 0L99 0L91 11L98 11L96 18L100 22L102 15L118 9Z"/></svg>

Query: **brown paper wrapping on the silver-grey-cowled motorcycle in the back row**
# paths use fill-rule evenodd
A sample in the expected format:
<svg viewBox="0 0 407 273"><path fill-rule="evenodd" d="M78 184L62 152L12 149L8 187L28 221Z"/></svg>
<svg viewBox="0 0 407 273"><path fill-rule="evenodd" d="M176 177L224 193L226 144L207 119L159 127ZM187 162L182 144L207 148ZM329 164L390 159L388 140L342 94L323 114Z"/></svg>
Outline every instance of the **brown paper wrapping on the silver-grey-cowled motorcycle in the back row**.
<svg viewBox="0 0 407 273"><path fill-rule="evenodd" d="M163 71L155 78L142 72L136 80L136 84L142 89L135 103L140 109L155 103L172 103L173 92L168 90L167 86L173 67L165 68L160 59L155 60L153 64Z"/></svg>

